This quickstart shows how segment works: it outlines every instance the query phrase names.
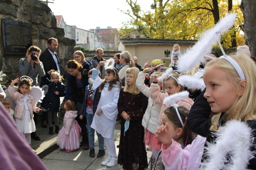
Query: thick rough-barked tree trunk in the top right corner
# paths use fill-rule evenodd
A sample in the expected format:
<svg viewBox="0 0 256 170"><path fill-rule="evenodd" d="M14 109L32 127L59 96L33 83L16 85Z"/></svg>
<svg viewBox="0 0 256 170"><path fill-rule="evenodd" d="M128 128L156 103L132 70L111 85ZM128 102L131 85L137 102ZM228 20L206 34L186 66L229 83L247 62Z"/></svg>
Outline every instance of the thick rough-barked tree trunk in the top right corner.
<svg viewBox="0 0 256 170"><path fill-rule="evenodd" d="M242 0L241 11L244 18L245 43L250 47L251 55L256 55L256 1Z"/></svg>

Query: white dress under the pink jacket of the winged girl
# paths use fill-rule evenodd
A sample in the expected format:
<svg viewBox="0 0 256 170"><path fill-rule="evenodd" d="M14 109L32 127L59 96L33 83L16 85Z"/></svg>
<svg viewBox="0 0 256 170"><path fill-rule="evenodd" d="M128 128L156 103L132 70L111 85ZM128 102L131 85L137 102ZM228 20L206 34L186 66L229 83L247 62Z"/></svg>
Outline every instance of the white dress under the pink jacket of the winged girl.
<svg viewBox="0 0 256 170"><path fill-rule="evenodd" d="M25 95L19 101L17 101L17 104L25 105L23 120L15 119L15 123L22 133L31 133L36 131L35 122L33 119L31 119L31 115L28 107L28 104L30 103L27 103L28 99L30 99L28 95Z"/></svg>

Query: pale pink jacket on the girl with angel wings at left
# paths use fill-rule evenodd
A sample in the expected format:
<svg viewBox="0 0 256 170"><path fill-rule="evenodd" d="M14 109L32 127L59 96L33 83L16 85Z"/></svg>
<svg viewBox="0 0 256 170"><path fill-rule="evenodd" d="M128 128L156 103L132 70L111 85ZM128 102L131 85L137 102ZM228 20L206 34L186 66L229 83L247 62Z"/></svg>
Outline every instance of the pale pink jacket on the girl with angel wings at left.
<svg viewBox="0 0 256 170"><path fill-rule="evenodd" d="M14 117L20 120L23 120L24 117L24 111L25 111L25 105L24 104L17 104L17 102L24 96L23 94L19 93L18 91L15 91L14 86L8 87L8 92L10 94L10 98L15 102L15 110L14 110ZM31 95L28 95L30 99L28 99L28 107L30 111L31 119L34 117L33 111L37 109L36 103L34 102L34 97Z"/></svg>

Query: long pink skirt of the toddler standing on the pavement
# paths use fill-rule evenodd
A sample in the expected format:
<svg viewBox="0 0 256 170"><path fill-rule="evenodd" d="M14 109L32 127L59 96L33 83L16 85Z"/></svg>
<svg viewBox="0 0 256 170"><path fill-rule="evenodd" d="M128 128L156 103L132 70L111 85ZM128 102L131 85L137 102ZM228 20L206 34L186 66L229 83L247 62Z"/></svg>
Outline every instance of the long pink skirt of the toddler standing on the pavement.
<svg viewBox="0 0 256 170"><path fill-rule="evenodd" d="M75 120L75 124L76 124ZM78 124L75 126L76 128L70 129L68 135L65 134L65 128L63 127L58 133L57 145L60 146L61 149L78 149L80 147L80 133L81 128Z"/></svg>

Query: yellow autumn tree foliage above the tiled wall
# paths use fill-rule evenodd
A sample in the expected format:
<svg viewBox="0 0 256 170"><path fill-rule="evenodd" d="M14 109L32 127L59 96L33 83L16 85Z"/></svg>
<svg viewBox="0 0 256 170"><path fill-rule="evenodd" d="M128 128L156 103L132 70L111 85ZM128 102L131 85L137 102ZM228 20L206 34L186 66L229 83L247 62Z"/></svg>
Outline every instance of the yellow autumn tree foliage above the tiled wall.
<svg viewBox="0 0 256 170"><path fill-rule="evenodd" d="M131 18L123 23L123 28L132 26L130 33L138 31L141 37L146 38L198 39L200 33L211 28L219 21L220 16L232 10L236 11L238 19L232 31L224 35L227 40L223 41L224 47L227 48L234 46L232 38L236 39L235 35L240 31L238 25L243 22L241 11L237 7L238 0L233 4L232 0L228 0L228 4L224 0L154 0L149 11L142 11L137 0L126 2L131 10L122 12ZM127 37L128 33L120 35Z"/></svg>

